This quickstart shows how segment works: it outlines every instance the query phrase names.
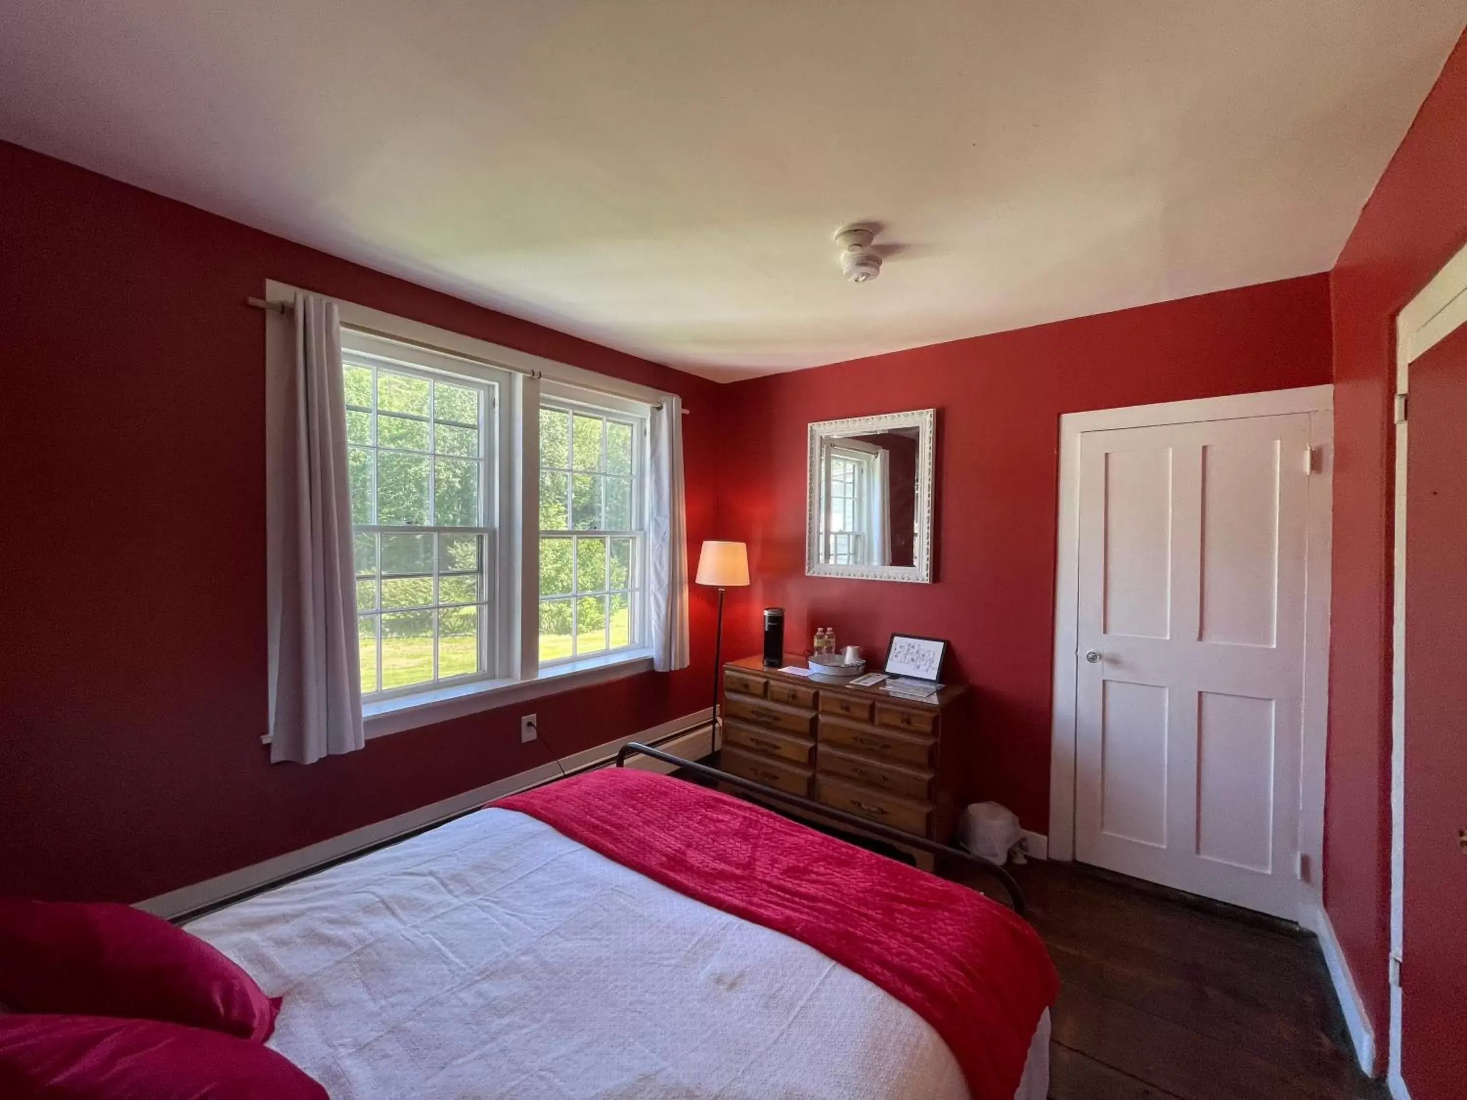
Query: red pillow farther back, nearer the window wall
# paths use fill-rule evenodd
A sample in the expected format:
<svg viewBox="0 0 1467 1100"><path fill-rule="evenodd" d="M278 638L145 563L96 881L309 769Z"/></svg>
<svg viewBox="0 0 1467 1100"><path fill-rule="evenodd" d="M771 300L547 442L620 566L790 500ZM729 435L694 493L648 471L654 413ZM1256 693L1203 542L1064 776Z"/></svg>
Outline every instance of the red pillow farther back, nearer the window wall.
<svg viewBox="0 0 1467 1100"><path fill-rule="evenodd" d="M263 1043L279 997L167 921L109 902L0 899L0 1002L16 1012L135 1016Z"/></svg>

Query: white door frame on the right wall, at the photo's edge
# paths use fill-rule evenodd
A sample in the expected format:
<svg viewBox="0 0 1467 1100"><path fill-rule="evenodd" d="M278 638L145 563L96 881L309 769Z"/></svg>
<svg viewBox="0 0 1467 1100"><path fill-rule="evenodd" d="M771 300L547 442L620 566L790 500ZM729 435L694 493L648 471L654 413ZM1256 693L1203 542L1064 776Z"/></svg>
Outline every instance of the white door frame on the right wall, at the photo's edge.
<svg viewBox="0 0 1467 1100"><path fill-rule="evenodd" d="M1411 364L1467 324L1467 246L1395 315L1395 500L1391 568L1391 1030L1386 1084L1405 1100L1401 1077L1401 962L1405 923L1405 487Z"/></svg>

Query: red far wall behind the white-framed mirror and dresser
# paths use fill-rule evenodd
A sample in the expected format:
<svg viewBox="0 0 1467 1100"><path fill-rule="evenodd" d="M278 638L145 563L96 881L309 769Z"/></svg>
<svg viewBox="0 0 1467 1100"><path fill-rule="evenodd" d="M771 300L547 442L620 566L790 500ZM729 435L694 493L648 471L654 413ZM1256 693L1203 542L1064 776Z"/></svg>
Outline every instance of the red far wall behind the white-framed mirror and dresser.
<svg viewBox="0 0 1467 1100"><path fill-rule="evenodd" d="M945 676L978 691L980 793L1047 832L1059 415L1329 377L1319 274L736 383L722 502L757 584L725 644L756 653L766 604L792 650L816 626L877 656L893 631L951 639ZM939 409L937 582L807 578L805 425L921 408Z"/></svg>

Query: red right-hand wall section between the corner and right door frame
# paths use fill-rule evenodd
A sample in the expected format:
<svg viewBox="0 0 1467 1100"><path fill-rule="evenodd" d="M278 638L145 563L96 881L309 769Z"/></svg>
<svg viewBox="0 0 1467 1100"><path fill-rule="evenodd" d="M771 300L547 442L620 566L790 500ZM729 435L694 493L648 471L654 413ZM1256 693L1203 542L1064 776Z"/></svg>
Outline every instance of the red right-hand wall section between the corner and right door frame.
<svg viewBox="0 0 1467 1100"><path fill-rule="evenodd" d="M1464 241L1467 43L1460 41L1331 273L1336 455L1325 908L1378 1047L1386 1035L1391 945L1392 326ZM1426 889L1422 896L1430 898Z"/></svg>

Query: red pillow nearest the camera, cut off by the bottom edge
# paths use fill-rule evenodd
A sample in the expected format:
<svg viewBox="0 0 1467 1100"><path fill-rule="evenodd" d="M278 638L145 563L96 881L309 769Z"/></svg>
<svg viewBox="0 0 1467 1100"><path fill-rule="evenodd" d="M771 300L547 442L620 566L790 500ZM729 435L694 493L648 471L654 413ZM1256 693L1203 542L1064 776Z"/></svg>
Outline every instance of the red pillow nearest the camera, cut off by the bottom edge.
<svg viewBox="0 0 1467 1100"><path fill-rule="evenodd" d="M110 1016L0 1016L13 1100L327 1100L288 1057L204 1028Z"/></svg>

